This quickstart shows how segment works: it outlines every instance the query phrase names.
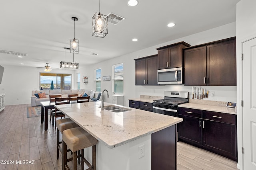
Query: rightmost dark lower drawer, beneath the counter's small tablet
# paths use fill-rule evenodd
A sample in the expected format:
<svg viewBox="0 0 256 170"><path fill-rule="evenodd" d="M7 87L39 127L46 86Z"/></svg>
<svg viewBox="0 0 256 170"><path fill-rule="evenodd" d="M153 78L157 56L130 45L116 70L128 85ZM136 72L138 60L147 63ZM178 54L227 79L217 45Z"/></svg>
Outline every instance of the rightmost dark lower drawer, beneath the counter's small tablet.
<svg viewBox="0 0 256 170"><path fill-rule="evenodd" d="M203 119L214 120L236 125L236 115L214 111L203 111Z"/></svg>

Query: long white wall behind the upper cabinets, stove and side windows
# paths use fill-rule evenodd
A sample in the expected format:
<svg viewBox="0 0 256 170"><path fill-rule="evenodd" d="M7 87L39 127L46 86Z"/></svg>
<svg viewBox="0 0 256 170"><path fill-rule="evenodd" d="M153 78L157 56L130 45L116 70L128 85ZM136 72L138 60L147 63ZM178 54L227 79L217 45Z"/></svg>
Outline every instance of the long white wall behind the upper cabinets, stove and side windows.
<svg viewBox="0 0 256 170"><path fill-rule="evenodd" d="M140 57L146 57L149 55L157 54L156 48L165 45L170 45L180 41L185 41L191 46L199 45L203 43L208 43L212 41L217 41L220 39L225 39L229 37L236 36L236 23L229 23L214 29L182 37L173 41L155 45L150 48L142 49L140 51L135 51L133 53L116 57L107 61L102 61L101 63L86 66L85 68L80 66L79 70L81 78L83 76L88 76L88 84L81 84L81 88L93 89L94 85L94 69L101 68L102 76L110 75L112 78L112 65L118 63L124 63L124 105L128 106L129 98L138 98L140 95L152 95L152 96L163 96L164 90L174 90L174 91L191 91L192 86L184 85L166 85L166 86L135 86L135 61L134 59ZM139 41L135 43L140 43ZM129 48L129 47L128 47ZM97 57L97 56L95 56ZM81 80L82 82L82 80ZM112 94L112 81L102 81L102 90L107 89L110 94ZM215 96L209 96L206 100L216 100L216 101L230 101L236 102L236 86L202 86L210 92L215 92ZM191 98L191 95L190 95ZM111 102L112 98L106 98L107 102Z"/></svg>

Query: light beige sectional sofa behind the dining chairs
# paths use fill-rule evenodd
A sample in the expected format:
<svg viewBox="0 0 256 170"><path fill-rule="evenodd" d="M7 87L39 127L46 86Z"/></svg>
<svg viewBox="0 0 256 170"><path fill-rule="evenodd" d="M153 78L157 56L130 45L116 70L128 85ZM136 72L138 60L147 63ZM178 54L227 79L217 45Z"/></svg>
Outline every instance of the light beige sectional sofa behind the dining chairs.
<svg viewBox="0 0 256 170"><path fill-rule="evenodd" d="M45 93L45 98L38 98L35 94ZM95 93L94 90L85 90L85 89L78 89L78 90L32 90L31 96L31 106L41 106L40 102L50 101L49 95L56 95L61 94L62 98L68 97L68 94L78 94L78 96L83 96L84 94L90 96L90 101L92 98L97 98L98 93Z"/></svg>

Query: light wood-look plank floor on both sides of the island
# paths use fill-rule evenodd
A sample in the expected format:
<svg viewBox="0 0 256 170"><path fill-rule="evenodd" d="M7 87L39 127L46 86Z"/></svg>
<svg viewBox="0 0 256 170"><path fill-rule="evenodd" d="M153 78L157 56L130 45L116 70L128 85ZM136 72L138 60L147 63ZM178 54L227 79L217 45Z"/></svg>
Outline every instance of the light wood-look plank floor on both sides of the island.
<svg viewBox="0 0 256 170"><path fill-rule="evenodd" d="M0 160L14 160L14 164L0 164L0 170L61 170L62 157L56 159L56 130L50 121L44 131L40 117L27 118L29 106L6 106L0 112ZM18 160L34 160L34 164L16 164ZM236 164L186 143L177 144L178 170L237 170Z"/></svg>

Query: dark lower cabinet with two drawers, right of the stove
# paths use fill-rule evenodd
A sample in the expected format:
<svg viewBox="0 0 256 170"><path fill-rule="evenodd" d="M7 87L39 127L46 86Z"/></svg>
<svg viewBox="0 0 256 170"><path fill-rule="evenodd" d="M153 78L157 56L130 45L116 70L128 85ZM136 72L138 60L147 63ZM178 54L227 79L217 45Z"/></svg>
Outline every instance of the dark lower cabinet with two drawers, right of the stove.
<svg viewBox="0 0 256 170"><path fill-rule="evenodd" d="M178 107L178 117L178 141L237 161L236 115Z"/></svg>

